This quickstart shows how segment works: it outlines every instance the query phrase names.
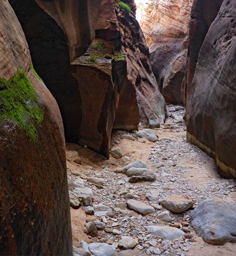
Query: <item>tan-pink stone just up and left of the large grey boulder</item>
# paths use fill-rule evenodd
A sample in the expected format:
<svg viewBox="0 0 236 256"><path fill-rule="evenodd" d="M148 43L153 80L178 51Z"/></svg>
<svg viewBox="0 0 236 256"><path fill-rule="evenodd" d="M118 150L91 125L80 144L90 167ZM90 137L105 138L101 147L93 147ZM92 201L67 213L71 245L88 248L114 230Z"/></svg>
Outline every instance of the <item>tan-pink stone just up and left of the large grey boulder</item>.
<svg viewBox="0 0 236 256"><path fill-rule="evenodd" d="M180 213L188 210L193 205L193 201L184 195L168 195L165 199L159 201L159 204L172 212Z"/></svg>

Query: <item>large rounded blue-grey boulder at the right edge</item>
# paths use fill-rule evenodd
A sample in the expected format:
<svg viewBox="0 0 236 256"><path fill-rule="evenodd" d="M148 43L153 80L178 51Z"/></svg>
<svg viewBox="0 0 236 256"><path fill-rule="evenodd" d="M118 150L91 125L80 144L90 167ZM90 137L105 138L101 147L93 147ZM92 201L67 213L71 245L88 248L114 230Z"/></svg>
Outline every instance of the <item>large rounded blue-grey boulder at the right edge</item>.
<svg viewBox="0 0 236 256"><path fill-rule="evenodd" d="M207 199L190 214L196 234L209 244L236 243L236 204Z"/></svg>

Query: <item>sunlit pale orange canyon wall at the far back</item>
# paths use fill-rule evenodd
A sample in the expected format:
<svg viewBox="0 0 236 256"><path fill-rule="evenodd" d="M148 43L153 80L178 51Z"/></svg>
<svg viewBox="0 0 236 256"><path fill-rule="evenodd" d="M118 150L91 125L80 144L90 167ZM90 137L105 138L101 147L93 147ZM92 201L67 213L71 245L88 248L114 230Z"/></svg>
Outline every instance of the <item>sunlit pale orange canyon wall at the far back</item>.
<svg viewBox="0 0 236 256"><path fill-rule="evenodd" d="M192 4L193 0L156 0L141 20L152 70L167 103L182 104Z"/></svg>

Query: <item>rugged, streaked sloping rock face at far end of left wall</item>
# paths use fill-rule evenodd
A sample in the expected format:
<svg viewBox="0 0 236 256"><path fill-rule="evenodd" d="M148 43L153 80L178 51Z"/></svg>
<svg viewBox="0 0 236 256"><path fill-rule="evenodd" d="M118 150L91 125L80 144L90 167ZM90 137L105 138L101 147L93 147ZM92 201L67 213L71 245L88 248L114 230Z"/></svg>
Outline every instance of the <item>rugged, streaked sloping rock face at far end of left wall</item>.
<svg viewBox="0 0 236 256"><path fill-rule="evenodd" d="M165 120L165 100L152 73L144 35L133 15L121 12L119 7L115 11L121 31L121 51L126 54L126 82L136 90L140 124L145 128L159 127L159 123Z"/></svg>

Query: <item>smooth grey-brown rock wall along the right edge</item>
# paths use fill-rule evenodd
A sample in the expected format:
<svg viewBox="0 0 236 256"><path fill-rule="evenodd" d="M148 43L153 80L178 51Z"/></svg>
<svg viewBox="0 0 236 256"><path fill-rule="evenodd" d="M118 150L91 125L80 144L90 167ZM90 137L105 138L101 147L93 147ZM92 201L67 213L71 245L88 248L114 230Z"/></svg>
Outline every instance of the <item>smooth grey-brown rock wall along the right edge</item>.
<svg viewBox="0 0 236 256"><path fill-rule="evenodd" d="M205 36L186 101L188 140L216 159L223 177L236 177L235 16L235 1L224 1Z"/></svg>

